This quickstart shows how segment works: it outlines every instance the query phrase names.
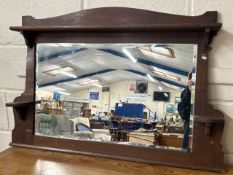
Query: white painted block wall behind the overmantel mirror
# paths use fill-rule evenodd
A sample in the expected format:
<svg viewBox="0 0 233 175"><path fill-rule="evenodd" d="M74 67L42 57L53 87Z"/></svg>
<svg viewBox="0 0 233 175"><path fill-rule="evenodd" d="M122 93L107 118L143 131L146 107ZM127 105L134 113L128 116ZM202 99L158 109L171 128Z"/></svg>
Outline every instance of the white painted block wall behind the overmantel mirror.
<svg viewBox="0 0 233 175"><path fill-rule="evenodd" d="M222 144L226 162L233 164L232 0L0 0L0 130L10 132L12 129L13 115L11 110L5 109L4 103L24 88L24 80L17 75L25 74L26 47L22 36L10 31L9 26L21 25L23 15L45 18L103 6L134 7L182 15L199 15L208 10L219 12L223 26L210 52L209 101L225 114Z"/></svg>

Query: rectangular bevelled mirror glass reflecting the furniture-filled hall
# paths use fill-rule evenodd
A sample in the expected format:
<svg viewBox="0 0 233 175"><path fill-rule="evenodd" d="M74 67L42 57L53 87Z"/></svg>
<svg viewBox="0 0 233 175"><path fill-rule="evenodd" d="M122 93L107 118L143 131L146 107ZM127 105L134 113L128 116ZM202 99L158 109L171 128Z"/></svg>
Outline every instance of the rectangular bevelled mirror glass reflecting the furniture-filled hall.
<svg viewBox="0 0 233 175"><path fill-rule="evenodd" d="M36 55L36 135L191 150L197 45L47 43Z"/></svg>

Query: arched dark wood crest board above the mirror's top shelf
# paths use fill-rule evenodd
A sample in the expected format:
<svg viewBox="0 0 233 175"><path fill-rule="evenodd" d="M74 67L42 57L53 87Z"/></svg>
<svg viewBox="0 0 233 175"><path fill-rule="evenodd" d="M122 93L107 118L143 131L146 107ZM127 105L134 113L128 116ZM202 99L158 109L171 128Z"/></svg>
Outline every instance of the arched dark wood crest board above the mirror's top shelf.
<svg viewBox="0 0 233 175"><path fill-rule="evenodd" d="M103 7L95 9L87 9L78 13L70 13L63 16L52 17L47 19L35 19L32 16L23 16L23 27L25 26L58 26L70 28L143 28L145 27L167 27L178 26L205 26L217 27L220 23L216 23L216 11L209 11L200 16L181 16L166 13L156 13L148 10L139 10L124 7ZM58 23L58 21L60 23ZM87 22L88 21L88 22ZM156 21L156 23L155 23ZM117 25L118 24L118 25ZM117 26L116 26L117 25Z"/></svg>

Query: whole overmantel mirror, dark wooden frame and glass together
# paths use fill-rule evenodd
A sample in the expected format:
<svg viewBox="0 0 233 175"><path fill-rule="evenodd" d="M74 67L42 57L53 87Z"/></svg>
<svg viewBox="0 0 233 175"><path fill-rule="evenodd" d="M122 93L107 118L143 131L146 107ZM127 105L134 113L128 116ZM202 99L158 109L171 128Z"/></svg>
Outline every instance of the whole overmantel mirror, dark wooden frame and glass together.
<svg viewBox="0 0 233 175"><path fill-rule="evenodd" d="M10 27L28 48L11 146L222 172L224 118L207 96L220 28L215 11L24 16Z"/></svg>

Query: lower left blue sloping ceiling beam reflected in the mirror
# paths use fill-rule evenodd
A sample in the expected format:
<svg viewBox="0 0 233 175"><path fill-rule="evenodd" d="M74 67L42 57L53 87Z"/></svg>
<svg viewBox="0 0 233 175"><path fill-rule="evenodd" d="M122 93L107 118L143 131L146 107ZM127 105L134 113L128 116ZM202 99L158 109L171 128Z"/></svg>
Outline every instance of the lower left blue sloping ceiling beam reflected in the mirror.
<svg viewBox="0 0 233 175"><path fill-rule="evenodd" d="M39 84L38 87L41 88L41 87L46 87L46 86L52 86L52 85L56 85L58 83L65 83L65 82L69 82L69 81L88 78L88 77L91 77L91 76L100 75L100 74L104 74L104 73L107 73L107 72L112 72L112 71L115 71L115 70L116 69L105 69L105 70L101 70L101 71L97 71L97 72L93 72L93 73L80 75L80 76L77 76L77 78L68 78L68 79L57 80L57 81L53 81L53 82L49 82L49 83Z"/></svg>

